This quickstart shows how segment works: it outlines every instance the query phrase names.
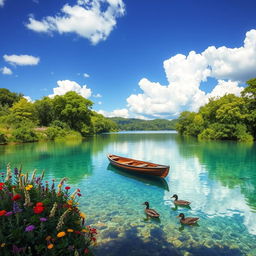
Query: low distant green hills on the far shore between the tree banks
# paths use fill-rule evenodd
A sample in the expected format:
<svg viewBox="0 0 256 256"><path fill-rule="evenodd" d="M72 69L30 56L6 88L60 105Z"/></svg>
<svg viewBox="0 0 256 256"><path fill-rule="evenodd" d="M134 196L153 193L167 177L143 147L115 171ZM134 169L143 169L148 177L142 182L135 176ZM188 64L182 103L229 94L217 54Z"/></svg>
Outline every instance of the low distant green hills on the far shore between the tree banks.
<svg viewBox="0 0 256 256"><path fill-rule="evenodd" d="M118 125L122 131L158 131L158 130L175 130L177 120L154 119L142 120L136 118L111 117L110 120Z"/></svg>

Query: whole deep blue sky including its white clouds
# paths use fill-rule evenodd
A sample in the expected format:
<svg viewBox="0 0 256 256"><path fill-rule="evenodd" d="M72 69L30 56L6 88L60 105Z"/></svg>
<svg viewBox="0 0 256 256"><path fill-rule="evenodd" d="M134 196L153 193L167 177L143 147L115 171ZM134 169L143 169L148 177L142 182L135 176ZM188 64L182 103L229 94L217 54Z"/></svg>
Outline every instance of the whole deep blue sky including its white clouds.
<svg viewBox="0 0 256 256"><path fill-rule="evenodd" d="M255 0L0 0L0 88L174 119L256 77Z"/></svg>

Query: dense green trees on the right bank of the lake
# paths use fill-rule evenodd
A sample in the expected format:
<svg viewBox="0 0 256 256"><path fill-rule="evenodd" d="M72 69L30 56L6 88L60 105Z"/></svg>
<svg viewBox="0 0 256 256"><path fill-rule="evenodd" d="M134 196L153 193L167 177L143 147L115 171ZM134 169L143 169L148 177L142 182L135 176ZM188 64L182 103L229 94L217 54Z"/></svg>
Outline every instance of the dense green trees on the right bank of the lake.
<svg viewBox="0 0 256 256"><path fill-rule="evenodd" d="M241 96L226 94L212 98L198 112L184 111L176 124L182 135L200 140L256 139L256 78L250 79Z"/></svg>

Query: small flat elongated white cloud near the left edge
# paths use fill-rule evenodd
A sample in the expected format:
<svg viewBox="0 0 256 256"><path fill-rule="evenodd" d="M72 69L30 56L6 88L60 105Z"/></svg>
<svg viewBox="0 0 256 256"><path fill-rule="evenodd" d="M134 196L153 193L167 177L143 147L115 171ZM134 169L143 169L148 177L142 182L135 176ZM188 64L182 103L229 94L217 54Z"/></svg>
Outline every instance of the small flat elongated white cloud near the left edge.
<svg viewBox="0 0 256 256"><path fill-rule="evenodd" d="M10 64L19 65L19 66L33 66L37 65L40 61L40 58L34 57L31 55L4 55L4 60Z"/></svg>

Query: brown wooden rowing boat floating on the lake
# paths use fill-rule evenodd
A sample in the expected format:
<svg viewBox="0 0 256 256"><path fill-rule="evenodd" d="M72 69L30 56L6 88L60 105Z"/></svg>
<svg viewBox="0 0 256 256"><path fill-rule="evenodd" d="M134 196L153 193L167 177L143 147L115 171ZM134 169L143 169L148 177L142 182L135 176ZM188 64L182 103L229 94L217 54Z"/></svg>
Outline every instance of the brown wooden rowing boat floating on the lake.
<svg viewBox="0 0 256 256"><path fill-rule="evenodd" d="M107 157L112 165L133 173L146 174L161 178L166 177L169 173L170 167L168 165L160 165L117 155L108 155Z"/></svg>

